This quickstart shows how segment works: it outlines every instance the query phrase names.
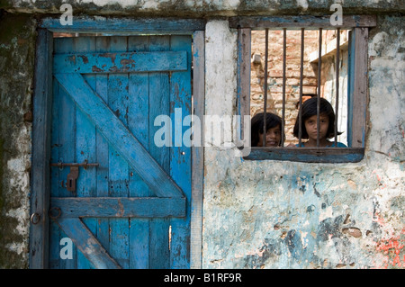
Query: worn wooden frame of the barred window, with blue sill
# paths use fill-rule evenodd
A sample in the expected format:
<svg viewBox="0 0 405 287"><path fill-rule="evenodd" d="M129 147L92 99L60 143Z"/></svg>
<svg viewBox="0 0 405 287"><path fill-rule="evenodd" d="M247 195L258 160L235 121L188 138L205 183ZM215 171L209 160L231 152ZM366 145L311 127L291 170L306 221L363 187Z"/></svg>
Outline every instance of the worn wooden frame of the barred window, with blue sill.
<svg viewBox="0 0 405 287"><path fill-rule="evenodd" d="M368 30L376 26L374 15L343 16L343 24L332 26L329 16L238 16L229 18L229 28L238 29L237 112L250 115L250 57L252 30L351 29L348 62L348 146L350 148L252 147L247 160L288 160L309 163L356 163L365 156L368 95ZM357 71L363 71L361 73ZM243 122L240 122L244 139ZM243 147L241 147L243 148Z"/></svg>

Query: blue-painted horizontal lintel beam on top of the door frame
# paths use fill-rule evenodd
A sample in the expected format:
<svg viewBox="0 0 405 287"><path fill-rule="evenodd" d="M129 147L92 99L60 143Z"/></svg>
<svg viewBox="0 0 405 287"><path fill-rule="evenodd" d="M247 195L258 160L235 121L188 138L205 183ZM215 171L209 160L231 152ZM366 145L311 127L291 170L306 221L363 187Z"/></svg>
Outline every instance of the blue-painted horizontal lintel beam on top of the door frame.
<svg viewBox="0 0 405 287"><path fill-rule="evenodd" d="M59 18L44 18L40 21L41 28L59 32L112 32L115 35L138 34L192 34L196 30L205 29L203 19L170 19L170 18L139 18L114 19L101 17L75 16L72 25L61 25Z"/></svg>

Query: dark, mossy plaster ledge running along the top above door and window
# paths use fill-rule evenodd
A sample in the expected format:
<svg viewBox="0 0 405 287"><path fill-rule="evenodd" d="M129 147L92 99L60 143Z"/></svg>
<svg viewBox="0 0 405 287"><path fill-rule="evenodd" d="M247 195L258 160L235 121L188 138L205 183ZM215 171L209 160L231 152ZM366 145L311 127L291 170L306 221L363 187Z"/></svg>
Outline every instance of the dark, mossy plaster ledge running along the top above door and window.
<svg viewBox="0 0 405 287"><path fill-rule="evenodd" d="M350 13L404 13L402 0L0 0L0 8L24 13L60 13L61 4L72 4L74 13L165 15L184 17L246 14L329 14L329 7L342 3ZM365 10L366 9L366 10Z"/></svg>

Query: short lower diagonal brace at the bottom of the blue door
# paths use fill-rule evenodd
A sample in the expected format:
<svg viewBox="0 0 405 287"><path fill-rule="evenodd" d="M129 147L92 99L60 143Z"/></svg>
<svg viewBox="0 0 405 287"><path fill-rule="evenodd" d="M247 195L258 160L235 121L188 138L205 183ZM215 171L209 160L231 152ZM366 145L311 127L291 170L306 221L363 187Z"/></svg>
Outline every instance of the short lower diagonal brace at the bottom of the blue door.
<svg viewBox="0 0 405 287"><path fill-rule="evenodd" d="M85 224L76 219L59 219L58 226L63 229L68 238L97 269L121 269L121 266L110 256L98 242Z"/></svg>

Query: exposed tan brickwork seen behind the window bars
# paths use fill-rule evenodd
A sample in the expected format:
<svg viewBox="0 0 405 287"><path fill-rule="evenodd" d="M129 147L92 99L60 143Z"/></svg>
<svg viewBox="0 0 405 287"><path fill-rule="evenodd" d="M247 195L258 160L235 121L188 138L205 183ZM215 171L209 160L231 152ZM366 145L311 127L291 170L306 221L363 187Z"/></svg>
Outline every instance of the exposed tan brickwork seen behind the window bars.
<svg viewBox="0 0 405 287"><path fill-rule="evenodd" d="M302 94L316 94L317 66L308 62L308 55L318 49L318 31L305 31L305 38ZM265 46L265 31L252 31L252 56L260 55L260 62L252 61L251 65L251 115L263 111ZM267 111L280 116L283 112L283 58L283 31L269 31ZM285 58L285 133L288 144L294 141L292 132L300 99L301 31L287 31Z"/></svg>

